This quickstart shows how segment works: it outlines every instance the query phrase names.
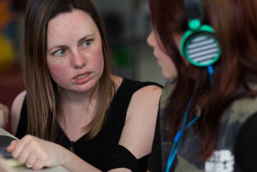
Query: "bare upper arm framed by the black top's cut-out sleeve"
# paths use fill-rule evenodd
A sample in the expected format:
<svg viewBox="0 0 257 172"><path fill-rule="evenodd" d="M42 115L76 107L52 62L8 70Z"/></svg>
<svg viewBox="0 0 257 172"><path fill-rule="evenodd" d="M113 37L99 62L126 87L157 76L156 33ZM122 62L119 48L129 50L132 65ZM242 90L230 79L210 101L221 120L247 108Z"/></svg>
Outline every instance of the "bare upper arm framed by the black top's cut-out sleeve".
<svg viewBox="0 0 257 172"><path fill-rule="evenodd" d="M119 144L137 159L151 152L162 88L145 86L132 95Z"/></svg>

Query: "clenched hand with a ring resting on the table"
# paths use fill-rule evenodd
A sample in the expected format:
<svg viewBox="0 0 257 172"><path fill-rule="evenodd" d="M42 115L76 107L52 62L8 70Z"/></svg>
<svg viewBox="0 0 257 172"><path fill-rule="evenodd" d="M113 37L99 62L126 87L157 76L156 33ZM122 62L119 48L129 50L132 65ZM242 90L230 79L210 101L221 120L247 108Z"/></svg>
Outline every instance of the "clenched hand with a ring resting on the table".
<svg viewBox="0 0 257 172"><path fill-rule="evenodd" d="M67 157L65 153L69 150L53 142L26 135L20 141L12 141L7 151L12 152L18 162L33 170L40 170L43 167L63 165Z"/></svg>

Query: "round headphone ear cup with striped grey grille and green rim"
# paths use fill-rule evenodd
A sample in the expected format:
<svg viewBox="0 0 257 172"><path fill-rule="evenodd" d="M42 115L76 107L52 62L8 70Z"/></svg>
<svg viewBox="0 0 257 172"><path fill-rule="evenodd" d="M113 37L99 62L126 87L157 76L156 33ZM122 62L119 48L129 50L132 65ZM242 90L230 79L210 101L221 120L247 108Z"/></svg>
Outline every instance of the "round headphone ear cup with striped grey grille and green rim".
<svg viewBox="0 0 257 172"><path fill-rule="evenodd" d="M185 39L184 56L195 66L209 66L215 63L221 54L218 40L213 33L200 31Z"/></svg>

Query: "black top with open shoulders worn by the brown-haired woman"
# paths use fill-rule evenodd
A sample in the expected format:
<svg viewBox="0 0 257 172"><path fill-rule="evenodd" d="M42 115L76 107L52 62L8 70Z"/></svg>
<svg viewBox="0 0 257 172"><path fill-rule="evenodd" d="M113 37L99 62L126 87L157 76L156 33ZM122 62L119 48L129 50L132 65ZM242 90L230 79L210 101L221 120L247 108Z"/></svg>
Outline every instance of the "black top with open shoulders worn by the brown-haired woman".
<svg viewBox="0 0 257 172"><path fill-rule="evenodd" d="M101 171L108 171L114 168L128 168L133 172L147 171L149 155L140 159L129 152L125 147L118 144L122 129L125 124L126 113L130 99L134 92L144 86L157 85L152 82L139 82L124 78L117 89L110 110L100 133L90 141L85 142L82 136L75 142L70 141L60 128L55 143L58 143L74 152L81 159L95 166ZM16 137L21 139L27 134L27 99L21 109L21 116L18 124Z"/></svg>

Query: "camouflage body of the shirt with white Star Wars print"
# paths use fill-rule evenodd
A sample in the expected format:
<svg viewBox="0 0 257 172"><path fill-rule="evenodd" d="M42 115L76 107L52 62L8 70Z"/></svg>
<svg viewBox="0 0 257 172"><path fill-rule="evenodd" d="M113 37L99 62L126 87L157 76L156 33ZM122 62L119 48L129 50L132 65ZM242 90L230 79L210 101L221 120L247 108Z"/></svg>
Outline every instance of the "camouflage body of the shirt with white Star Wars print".
<svg viewBox="0 0 257 172"><path fill-rule="evenodd" d="M164 128L164 110L165 102L175 82L168 81L162 91L160 100L160 136L162 150L162 171L166 169L168 156L171 151L172 142L168 136L168 128ZM256 85L250 85L252 89L257 90ZM239 90L240 91L240 90ZM234 144L236 136L242 124L257 112L257 97L242 98L234 101L227 107L220 119L219 135L216 149L213 155L205 162L198 160L199 155L194 153L200 150L198 136L193 127L189 127L184 132L183 139L177 152L177 160L174 161L175 172L241 172L238 165L235 164ZM257 124L257 121L256 121ZM254 132L254 131L253 131ZM165 135L166 134L166 135ZM256 170L257 171L257 170Z"/></svg>

